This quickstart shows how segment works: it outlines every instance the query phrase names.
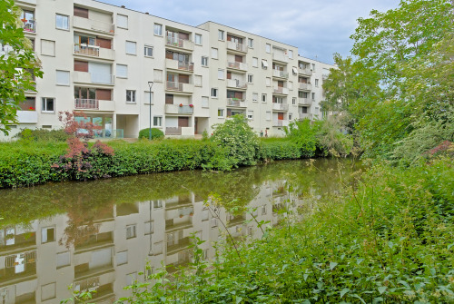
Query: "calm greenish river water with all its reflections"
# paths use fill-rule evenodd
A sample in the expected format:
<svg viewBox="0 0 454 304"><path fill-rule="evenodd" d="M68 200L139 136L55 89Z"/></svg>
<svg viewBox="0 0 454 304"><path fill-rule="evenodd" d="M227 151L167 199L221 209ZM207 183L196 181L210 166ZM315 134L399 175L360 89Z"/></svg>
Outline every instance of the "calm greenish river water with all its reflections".
<svg viewBox="0 0 454 304"><path fill-rule="evenodd" d="M59 303L71 296L70 285L96 290L93 302L113 303L129 295L123 287L133 279L162 264L169 272L187 264L192 233L205 240L203 256L211 259L224 224L233 237L259 238L262 231L252 215L276 225L281 210L310 210L317 197L348 181L351 164L284 161L233 172L169 172L0 190L0 304ZM212 194L249 205L252 214L222 210L217 218L204 204Z"/></svg>

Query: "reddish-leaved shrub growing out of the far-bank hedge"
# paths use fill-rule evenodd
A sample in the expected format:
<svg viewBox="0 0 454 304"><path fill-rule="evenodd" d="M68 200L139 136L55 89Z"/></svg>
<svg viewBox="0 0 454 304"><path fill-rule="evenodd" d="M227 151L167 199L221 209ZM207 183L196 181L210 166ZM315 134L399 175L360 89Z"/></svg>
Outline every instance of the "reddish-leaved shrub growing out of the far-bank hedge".
<svg viewBox="0 0 454 304"><path fill-rule="evenodd" d="M64 124L64 132L71 137L66 141L67 153L52 165L54 171L63 175L64 179L76 181L109 177L105 169L112 161L114 149L100 141L96 141L92 147L88 144L88 140L94 138L101 126L87 120L84 113L60 112L58 119Z"/></svg>

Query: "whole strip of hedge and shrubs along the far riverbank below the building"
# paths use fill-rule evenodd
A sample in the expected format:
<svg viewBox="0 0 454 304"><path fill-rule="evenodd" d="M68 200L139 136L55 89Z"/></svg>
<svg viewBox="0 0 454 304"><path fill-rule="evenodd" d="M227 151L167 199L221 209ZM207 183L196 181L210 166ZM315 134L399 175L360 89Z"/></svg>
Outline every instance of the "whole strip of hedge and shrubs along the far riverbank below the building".
<svg viewBox="0 0 454 304"><path fill-rule="evenodd" d="M153 172L229 171L271 160L308 158L324 152L317 145L316 128L309 121L292 123L287 137L260 139L247 120L237 115L217 125L212 137L202 141L143 139L134 143L88 143L74 136L68 139L62 132L55 132L53 140L42 131L25 130L17 142L0 143L0 188ZM90 130L90 126L74 126L71 120L65 123L69 133L79 129ZM301 139L295 135L301 131L310 135Z"/></svg>

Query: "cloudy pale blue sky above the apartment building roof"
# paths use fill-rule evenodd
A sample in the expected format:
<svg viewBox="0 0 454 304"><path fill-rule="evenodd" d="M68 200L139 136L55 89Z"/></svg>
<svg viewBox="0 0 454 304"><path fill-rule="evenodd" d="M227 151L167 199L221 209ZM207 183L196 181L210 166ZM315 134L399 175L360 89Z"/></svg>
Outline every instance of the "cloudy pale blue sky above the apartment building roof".
<svg viewBox="0 0 454 304"><path fill-rule="evenodd" d="M102 0L186 25L214 21L282 43L332 64L332 54L350 53L359 17L398 7L400 0Z"/></svg>

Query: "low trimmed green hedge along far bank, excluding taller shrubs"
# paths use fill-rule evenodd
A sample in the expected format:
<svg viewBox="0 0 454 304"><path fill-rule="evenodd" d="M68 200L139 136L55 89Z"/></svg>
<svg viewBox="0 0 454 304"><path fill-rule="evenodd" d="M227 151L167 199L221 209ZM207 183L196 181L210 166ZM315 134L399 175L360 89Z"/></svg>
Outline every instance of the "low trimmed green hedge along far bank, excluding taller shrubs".
<svg viewBox="0 0 454 304"><path fill-rule="evenodd" d="M108 142L114 156L84 155L84 168L76 177L52 167L66 153L65 142L0 143L0 188L30 186L47 181L87 181L153 172L212 169L228 170L224 149L212 141L163 140L159 142ZM301 158L298 146L286 139L263 139L257 162ZM240 165L244 165L241 163Z"/></svg>

